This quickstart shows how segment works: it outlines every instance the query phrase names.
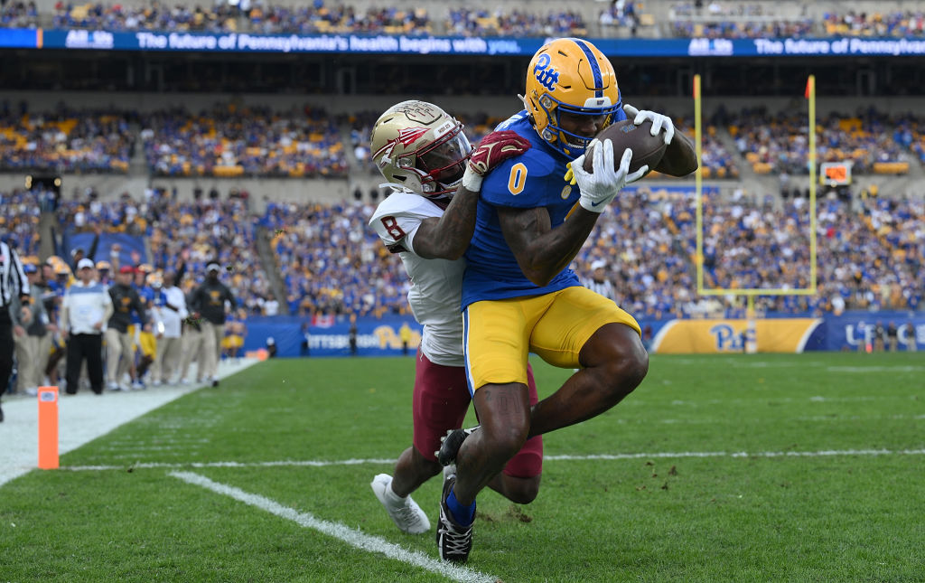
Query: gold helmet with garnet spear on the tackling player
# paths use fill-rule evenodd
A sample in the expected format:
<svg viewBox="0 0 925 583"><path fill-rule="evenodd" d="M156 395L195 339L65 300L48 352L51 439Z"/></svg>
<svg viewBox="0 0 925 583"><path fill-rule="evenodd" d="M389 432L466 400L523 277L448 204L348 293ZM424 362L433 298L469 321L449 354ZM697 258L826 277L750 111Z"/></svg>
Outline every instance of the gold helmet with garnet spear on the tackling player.
<svg viewBox="0 0 925 583"><path fill-rule="evenodd" d="M462 123L437 105L403 101L376 120L370 150L389 184L431 197L455 192L472 146Z"/></svg>

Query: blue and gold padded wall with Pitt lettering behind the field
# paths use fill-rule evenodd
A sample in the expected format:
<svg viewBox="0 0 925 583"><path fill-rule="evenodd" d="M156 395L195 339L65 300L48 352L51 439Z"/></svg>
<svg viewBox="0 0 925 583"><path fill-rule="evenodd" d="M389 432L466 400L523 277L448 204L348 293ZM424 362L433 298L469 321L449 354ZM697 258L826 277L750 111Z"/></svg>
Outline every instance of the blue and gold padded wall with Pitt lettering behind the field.
<svg viewBox="0 0 925 583"><path fill-rule="evenodd" d="M906 351L912 339L925 349L925 312L851 312L842 316L771 317L756 320L759 353L802 353L805 351L857 351L873 342L877 323L885 328L893 322L898 328L898 349ZM412 329L409 354L421 341L421 326L412 316L383 318L358 317L358 356L398 356L402 354L399 330L402 324ZM651 331L645 339L650 353L657 354L730 354L743 352L741 332L745 319L639 320ZM277 356L349 356L350 322L344 316L292 317L261 316L247 320L244 351L266 347L272 337ZM305 331L308 332L307 345Z"/></svg>

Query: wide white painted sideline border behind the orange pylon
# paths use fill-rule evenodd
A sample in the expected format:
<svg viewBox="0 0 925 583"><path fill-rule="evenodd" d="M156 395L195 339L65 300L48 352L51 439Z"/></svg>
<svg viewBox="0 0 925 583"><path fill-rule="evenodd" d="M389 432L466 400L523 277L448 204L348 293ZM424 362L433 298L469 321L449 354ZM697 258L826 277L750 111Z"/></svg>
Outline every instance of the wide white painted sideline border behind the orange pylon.
<svg viewBox="0 0 925 583"><path fill-rule="evenodd" d="M240 359L238 364L222 361L218 378L233 375L256 364ZM58 453L68 453L88 441L142 416L163 404L203 387L152 387L146 391L104 391L94 395L89 389L76 395L58 396ZM219 386L216 391L221 391ZM36 397L3 400L6 420L0 423L0 486L19 478L38 465L39 407Z"/></svg>

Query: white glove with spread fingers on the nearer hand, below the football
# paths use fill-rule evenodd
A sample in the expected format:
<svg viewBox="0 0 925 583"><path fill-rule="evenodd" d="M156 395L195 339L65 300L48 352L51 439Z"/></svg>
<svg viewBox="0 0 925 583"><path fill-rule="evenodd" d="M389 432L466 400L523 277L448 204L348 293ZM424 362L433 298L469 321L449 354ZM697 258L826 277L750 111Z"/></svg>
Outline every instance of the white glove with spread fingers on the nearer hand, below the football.
<svg viewBox="0 0 925 583"><path fill-rule="evenodd" d="M575 158L571 165L572 183L578 184L581 198L578 204L592 213L602 213L613 197L630 182L641 179L648 172L648 166L640 167L630 174L630 161L633 160L633 150L627 148L620 159L620 167L614 167L613 143L610 140L599 142L594 140L588 145L594 145L592 152L592 172L585 171L585 154ZM566 175L568 176L568 175ZM566 178L566 180L570 180Z"/></svg>

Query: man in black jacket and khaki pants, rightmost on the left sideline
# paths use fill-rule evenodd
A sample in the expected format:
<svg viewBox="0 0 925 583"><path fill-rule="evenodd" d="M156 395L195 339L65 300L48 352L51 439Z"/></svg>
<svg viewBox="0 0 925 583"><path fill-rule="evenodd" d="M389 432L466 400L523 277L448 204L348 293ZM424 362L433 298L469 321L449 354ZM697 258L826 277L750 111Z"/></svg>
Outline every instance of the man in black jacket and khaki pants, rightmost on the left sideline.
<svg viewBox="0 0 925 583"><path fill-rule="evenodd" d="M218 354L225 337L225 302L232 310L238 306L228 286L218 280L219 269L217 263L206 266L205 281L192 291L190 298L192 318L203 327L203 376L213 387L218 386Z"/></svg>

